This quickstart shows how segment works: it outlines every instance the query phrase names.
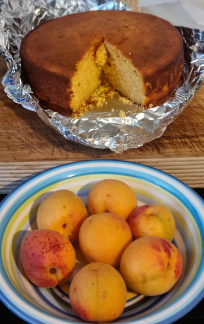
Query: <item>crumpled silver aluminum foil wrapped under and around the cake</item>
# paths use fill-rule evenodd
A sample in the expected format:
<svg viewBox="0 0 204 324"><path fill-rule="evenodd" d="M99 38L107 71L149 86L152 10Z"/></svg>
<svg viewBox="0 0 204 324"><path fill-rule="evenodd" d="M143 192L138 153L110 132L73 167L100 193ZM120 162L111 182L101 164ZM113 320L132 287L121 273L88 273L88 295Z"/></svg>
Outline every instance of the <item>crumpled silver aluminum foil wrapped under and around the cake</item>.
<svg viewBox="0 0 204 324"><path fill-rule="evenodd" d="M0 0L0 6L0 52L7 61L20 97L29 102L30 109L45 124L68 140L94 148L110 148L116 153L142 146L162 136L192 100L204 78L204 32L178 26L184 40L184 71L177 89L158 106L143 110L114 97L108 99L105 107L90 110L80 118L63 116L41 107L30 86L23 85L19 55L22 37L51 18L88 10L131 8L122 1L108 0Z"/></svg>

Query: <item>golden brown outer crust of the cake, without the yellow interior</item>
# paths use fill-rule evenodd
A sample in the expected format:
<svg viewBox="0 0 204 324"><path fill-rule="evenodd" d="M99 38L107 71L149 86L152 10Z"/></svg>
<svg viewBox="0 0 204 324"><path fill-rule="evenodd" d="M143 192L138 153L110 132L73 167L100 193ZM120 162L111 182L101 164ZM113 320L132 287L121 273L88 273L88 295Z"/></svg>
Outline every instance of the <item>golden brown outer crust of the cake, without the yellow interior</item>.
<svg viewBox="0 0 204 324"><path fill-rule="evenodd" d="M167 95L183 70L183 40L166 20L129 11L90 11L49 20L21 42L22 78L40 102L71 111L70 80L77 62L101 41L132 60L144 79L144 104Z"/></svg>

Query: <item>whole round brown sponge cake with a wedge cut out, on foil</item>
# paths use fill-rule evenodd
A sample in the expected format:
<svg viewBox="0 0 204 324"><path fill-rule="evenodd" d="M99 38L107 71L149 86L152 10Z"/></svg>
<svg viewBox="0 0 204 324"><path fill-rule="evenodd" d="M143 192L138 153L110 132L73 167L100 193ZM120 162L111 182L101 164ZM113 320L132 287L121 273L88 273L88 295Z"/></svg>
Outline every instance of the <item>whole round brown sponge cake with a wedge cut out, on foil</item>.
<svg viewBox="0 0 204 324"><path fill-rule="evenodd" d="M22 79L40 103L80 109L101 73L123 96L148 107L183 71L183 39L168 21L130 11L89 11L51 19L21 42Z"/></svg>

